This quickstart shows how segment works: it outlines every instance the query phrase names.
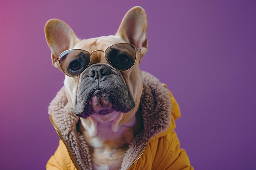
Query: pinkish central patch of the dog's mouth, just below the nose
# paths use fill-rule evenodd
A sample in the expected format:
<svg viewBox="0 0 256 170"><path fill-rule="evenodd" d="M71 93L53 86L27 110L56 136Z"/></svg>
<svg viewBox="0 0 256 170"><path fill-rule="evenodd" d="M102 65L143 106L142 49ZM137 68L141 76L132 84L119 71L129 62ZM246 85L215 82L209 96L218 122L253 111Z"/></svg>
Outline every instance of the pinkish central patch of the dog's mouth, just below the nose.
<svg viewBox="0 0 256 170"><path fill-rule="evenodd" d="M90 104L94 112L99 115L106 115L112 112L112 101L110 95L102 90L94 92Z"/></svg>

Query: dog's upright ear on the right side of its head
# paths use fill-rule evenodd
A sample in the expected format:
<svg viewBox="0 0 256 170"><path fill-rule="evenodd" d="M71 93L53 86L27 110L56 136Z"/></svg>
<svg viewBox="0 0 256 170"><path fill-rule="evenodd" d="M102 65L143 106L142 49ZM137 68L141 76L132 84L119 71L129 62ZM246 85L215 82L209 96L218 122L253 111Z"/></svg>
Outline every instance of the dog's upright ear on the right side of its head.
<svg viewBox="0 0 256 170"><path fill-rule="evenodd" d="M141 7L133 7L124 16L116 33L126 42L141 49L141 57L148 51L146 38L148 28L146 12Z"/></svg>

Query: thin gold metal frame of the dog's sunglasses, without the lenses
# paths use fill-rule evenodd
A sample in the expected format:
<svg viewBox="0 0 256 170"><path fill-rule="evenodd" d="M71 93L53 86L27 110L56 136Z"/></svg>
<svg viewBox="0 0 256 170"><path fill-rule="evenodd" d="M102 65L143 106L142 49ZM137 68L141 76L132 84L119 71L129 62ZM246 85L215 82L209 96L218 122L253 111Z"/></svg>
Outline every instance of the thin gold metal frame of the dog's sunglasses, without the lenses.
<svg viewBox="0 0 256 170"><path fill-rule="evenodd" d="M111 61L108 61L108 59L107 59L107 57L106 57L106 53L105 53L107 49L109 49L109 48L112 47L112 46L118 45L118 44L129 44L129 45L132 46L133 49L135 50L135 55L136 55L136 56L135 56L135 61L134 61L133 65L132 65L129 69L124 70L124 71L115 68L115 66L112 65L113 63L112 63ZM86 51L86 50L84 50L84 49L68 49L68 50L63 51L63 52L59 55L59 57L53 59L54 62L58 63L58 65L59 65L60 68L61 68L61 63L60 63L61 55L62 55L63 53L66 53L67 51L71 51L71 50L83 50L83 51ZM88 67L90 66L90 64L91 64L92 53L97 52L97 51L103 52L103 53L104 53L104 56L105 56L105 58L106 58L106 60L108 61L108 63L109 63L112 67L114 67L116 70L121 71L121 72L126 72L126 71L130 70L130 69L135 65L135 63L136 63L136 61L137 61L137 51L138 51L138 52L141 52L141 49L135 47L133 44L126 43L126 42L121 42L121 43L117 43L117 44L113 44L113 45L109 46L108 48L105 49L105 51L103 51L103 50L93 50L92 52L86 51L87 53L90 54L90 62L89 62L88 66L87 66L86 68L88 68ZM85 68L83 71L85 71L86 68ZM63 71L62 68L61 68L61 71L62 71L65 75L67 75L67 74ZM81 75L81 74L83 73L83 71L82 71L79 75ZM78 77L79 75L76 75L76 76L67 75L67 76L68 76L68 77Z"/></svg>

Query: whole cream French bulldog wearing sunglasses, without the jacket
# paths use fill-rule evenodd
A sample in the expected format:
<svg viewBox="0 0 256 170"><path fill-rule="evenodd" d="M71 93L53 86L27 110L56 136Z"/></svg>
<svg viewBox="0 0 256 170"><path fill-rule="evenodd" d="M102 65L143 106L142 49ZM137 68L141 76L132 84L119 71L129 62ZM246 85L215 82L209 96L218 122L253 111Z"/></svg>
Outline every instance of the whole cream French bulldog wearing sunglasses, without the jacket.
<svg viewBox="0 0 256 170"><path fill-rule="evenodd" d="M95 170L118 170L134 136L141 93L141 58L148 51L147 18L134 7L115 35L80 40L65 22L52 19L45 37L52 64L65 74L64 86Z"/></svg>

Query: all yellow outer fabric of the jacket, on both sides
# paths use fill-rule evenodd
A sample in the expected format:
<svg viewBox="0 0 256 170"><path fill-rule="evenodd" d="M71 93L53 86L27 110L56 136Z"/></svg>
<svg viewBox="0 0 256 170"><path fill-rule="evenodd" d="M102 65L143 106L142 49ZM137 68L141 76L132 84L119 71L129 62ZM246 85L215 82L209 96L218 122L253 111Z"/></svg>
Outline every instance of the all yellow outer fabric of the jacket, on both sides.
<svg viewBox="0 0 256 170"><path fill-rule="evenodd" d="M180 141L174 131L174 121L180 117L180 108L171 92L168 92L172 103L171 125L168 130L150 139L143 155L129 170L193 170L185 150L180 149ZM56 152L47 162L46 169L76 170L63 141L59 142Z"/></svg>

